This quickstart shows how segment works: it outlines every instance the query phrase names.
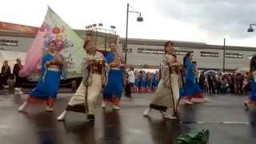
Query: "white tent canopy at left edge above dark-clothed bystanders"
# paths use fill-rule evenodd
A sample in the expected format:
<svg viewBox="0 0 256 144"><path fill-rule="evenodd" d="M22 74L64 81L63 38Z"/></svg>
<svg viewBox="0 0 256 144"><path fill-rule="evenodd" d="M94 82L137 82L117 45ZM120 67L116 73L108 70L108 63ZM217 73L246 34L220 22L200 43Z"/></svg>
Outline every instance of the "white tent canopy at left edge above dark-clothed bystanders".
<svg viewBox="0 0 256 144"><path fill-rule="evenodd" d="M13 70L13 67L14 67L14 64L16 63L17 58L20 58L22 60L22 63L25 62L26 52L0 50L0 66L1 66L1 68L2 68L3 62L8 61L10 70Z"/></svg>

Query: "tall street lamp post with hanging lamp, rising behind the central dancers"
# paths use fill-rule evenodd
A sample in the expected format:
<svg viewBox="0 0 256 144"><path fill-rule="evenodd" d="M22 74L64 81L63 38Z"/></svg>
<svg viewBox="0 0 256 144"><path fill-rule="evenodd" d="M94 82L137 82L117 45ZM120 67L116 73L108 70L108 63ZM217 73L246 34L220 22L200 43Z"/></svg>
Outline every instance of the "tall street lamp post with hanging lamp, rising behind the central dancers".
<svg viewBox="0 0 256 144"><path fill-rule="evenodd" d="M142 14L138 11L132 11L132 10L129 10L129 3L127 3L127 11L126 11L126 42L125 42L125 45L124 45L124 48L125 48L125 62L127 63L127 41L128 41L128 19L129 19L129 13L138 13L139 16L137 18L137 21L138 22L143 22L143 18L142 18Z"/></svg>

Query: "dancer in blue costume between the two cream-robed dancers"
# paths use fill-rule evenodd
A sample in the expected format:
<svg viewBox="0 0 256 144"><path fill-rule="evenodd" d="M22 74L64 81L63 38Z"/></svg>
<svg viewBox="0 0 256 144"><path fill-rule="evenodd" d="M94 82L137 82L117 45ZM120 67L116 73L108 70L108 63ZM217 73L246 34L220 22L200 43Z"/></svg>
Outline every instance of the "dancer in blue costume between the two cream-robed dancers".
<svg viewBox="0 0 256 144"><path fill-rule="evenodd" d="M102 102L102 107L110 103L114 110L119 110L125 65L122 64L122 55L118 54L116 47L116 42L114 40L110 41L111 51L106 53L106 62L110 66L110 73L108 74L108 83L103 90L104 101Z"/></svg>

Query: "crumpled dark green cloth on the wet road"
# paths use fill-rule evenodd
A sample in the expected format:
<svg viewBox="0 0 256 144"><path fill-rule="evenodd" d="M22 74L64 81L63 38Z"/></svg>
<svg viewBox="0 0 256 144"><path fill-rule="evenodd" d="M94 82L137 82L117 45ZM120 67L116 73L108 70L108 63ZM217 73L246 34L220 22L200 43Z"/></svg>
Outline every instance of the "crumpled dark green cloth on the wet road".
<svg viewBox="0 0 256 144"><path fill-rule="evenodd" d="M209 141L209 130L193 130L189 134L178 136L178 144L207 144Z"/></svg>

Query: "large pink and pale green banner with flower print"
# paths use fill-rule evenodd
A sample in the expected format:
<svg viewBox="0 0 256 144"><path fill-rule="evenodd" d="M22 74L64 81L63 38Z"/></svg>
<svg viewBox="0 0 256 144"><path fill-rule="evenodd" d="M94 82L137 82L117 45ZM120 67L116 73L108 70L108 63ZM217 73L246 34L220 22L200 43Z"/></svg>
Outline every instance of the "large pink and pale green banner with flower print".
<svg viewBox="0 0 256 144"><path fill-rule="evenodd" d="M83 39L70 26L48 7L47 14L38 34L26 54L26 61L21 76L39 71L40 62L51 41L57 43L57 51L65 59L67 78L81 77L82 60L86 56Z"/></svg>

